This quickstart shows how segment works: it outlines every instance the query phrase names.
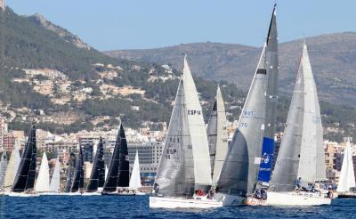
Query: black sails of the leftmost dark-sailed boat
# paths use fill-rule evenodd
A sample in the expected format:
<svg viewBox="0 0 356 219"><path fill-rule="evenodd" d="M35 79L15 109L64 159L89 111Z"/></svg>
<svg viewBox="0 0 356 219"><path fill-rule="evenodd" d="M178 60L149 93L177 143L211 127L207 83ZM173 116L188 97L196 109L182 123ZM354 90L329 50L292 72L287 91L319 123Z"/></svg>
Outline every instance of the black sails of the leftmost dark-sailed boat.
<svg viewBox="0 0 356 219"><path fill-rule="evenodd" d="M36 127L32 126L28 134L28 142L22 152L19 170L16 174L12 191L32 190L36 175Z"/></svg>

